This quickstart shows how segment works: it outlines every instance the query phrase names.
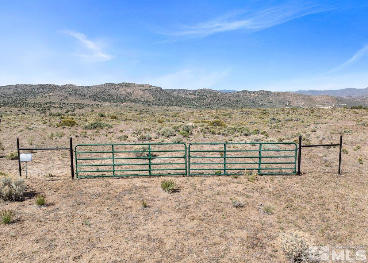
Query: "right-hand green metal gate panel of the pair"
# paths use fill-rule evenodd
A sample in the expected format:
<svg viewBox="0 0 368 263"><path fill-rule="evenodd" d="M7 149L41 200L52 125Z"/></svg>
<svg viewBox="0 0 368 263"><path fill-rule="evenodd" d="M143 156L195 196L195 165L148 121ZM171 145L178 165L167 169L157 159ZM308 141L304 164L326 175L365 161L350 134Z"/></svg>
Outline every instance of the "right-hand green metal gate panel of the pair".
<svg viewBox="0 0 368 263"><path fill-rule="evenodd" d="M191 143L188 158L188 175L233 175L248 170L259 175L289 175L296 173L297 145L293 142Z"/></svg>

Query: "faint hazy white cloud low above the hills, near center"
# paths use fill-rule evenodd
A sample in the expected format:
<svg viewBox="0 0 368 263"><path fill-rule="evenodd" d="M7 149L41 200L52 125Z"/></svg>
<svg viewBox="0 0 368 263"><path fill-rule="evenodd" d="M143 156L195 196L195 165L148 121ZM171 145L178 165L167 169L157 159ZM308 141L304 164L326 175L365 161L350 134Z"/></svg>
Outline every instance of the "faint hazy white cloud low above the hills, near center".
<svg viewBox="0 0 368 263"><path fill-rule="evenodd" d="M147 80L146 82L162 88L196 90L199 88L210 88L226 77L229 71L230 69L214 72L207 72L202 69L184 69Z"/></svg>

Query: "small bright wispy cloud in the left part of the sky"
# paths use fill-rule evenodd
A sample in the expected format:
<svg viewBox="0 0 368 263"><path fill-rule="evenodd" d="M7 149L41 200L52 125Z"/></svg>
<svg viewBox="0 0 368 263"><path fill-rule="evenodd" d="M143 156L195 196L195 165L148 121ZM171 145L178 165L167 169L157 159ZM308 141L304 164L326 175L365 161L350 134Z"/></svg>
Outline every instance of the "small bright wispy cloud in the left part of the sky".
<svg viewBox="0 0 368 263"><path fill-rule="evenodd" d="M102 51L101 43L89 40L84 34L73 31L63 32L78 39L78 42L82 46L82 48L89 52L89 54L74 53L73 55L82 57L84 59L92 59L98 61L108 61L114 58L114 56Z"/></svg>

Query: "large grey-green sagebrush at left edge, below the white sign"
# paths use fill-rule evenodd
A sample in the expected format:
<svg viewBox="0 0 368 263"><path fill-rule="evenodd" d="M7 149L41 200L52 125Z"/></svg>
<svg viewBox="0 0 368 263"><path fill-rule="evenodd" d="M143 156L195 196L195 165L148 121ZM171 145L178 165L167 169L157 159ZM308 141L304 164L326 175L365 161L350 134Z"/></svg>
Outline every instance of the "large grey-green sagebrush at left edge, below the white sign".
<svg viewBox="0 0 368 263"><path fill-rule="evenodd" d="M0 196L3 200L21 200L25 191L25 180L11 179L4 176L0 179Z"/></svg>

